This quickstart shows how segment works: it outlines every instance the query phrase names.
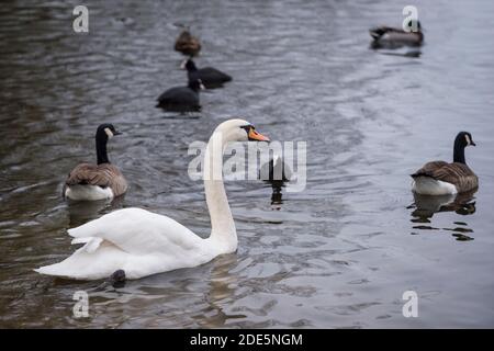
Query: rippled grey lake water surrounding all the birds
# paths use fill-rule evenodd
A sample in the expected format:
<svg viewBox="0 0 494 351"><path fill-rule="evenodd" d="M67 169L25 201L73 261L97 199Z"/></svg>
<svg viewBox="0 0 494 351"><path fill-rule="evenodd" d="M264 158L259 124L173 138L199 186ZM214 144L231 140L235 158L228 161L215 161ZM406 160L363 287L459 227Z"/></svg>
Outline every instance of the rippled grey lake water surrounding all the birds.
<svg viewBox="0 0 494 351"><path fill-rule="evenodd" d="M74 4L0 7L1 327L494 326L492 1L417 1L419 57L369 49L368 27L400 25L406 2L85 4L86 35L71 30ZM201 95L199 118L154 107L186 79L172 50L181 23L202 39L198 65L234 77ZM231 116L308 146L307 188L283 193L280 211L270 186L227 184L236 254L121 288L32 271L72 252L67 228L122 206L206 236L187 148ZM110 206L69 206L61 183L94 158L102 122L125 132L110 158L131 189ZM441 204L426 204L417 215L407 174L450 159L461 129L478 144L467 158L480 191L470 205L434 213ZM86 319L72 317L80 290ZM407 290L418 294L418 318L402 315Z"/></svg>

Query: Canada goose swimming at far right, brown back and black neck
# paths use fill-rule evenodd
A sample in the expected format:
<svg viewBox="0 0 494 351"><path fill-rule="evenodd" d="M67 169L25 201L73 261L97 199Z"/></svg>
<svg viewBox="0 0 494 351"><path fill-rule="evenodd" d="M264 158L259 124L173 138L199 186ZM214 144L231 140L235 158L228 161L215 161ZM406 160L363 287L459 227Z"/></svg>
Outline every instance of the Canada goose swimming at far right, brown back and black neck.
<svg viewBox="0 0 494 351"><path fill-rule="evenodd" d="M479 179L467 166L464 148L475 146L472 135L460 132L454 139L453 161L433 161L412 174L413 191L423 195L446 195L471 191L479 186Z"/></svg>

